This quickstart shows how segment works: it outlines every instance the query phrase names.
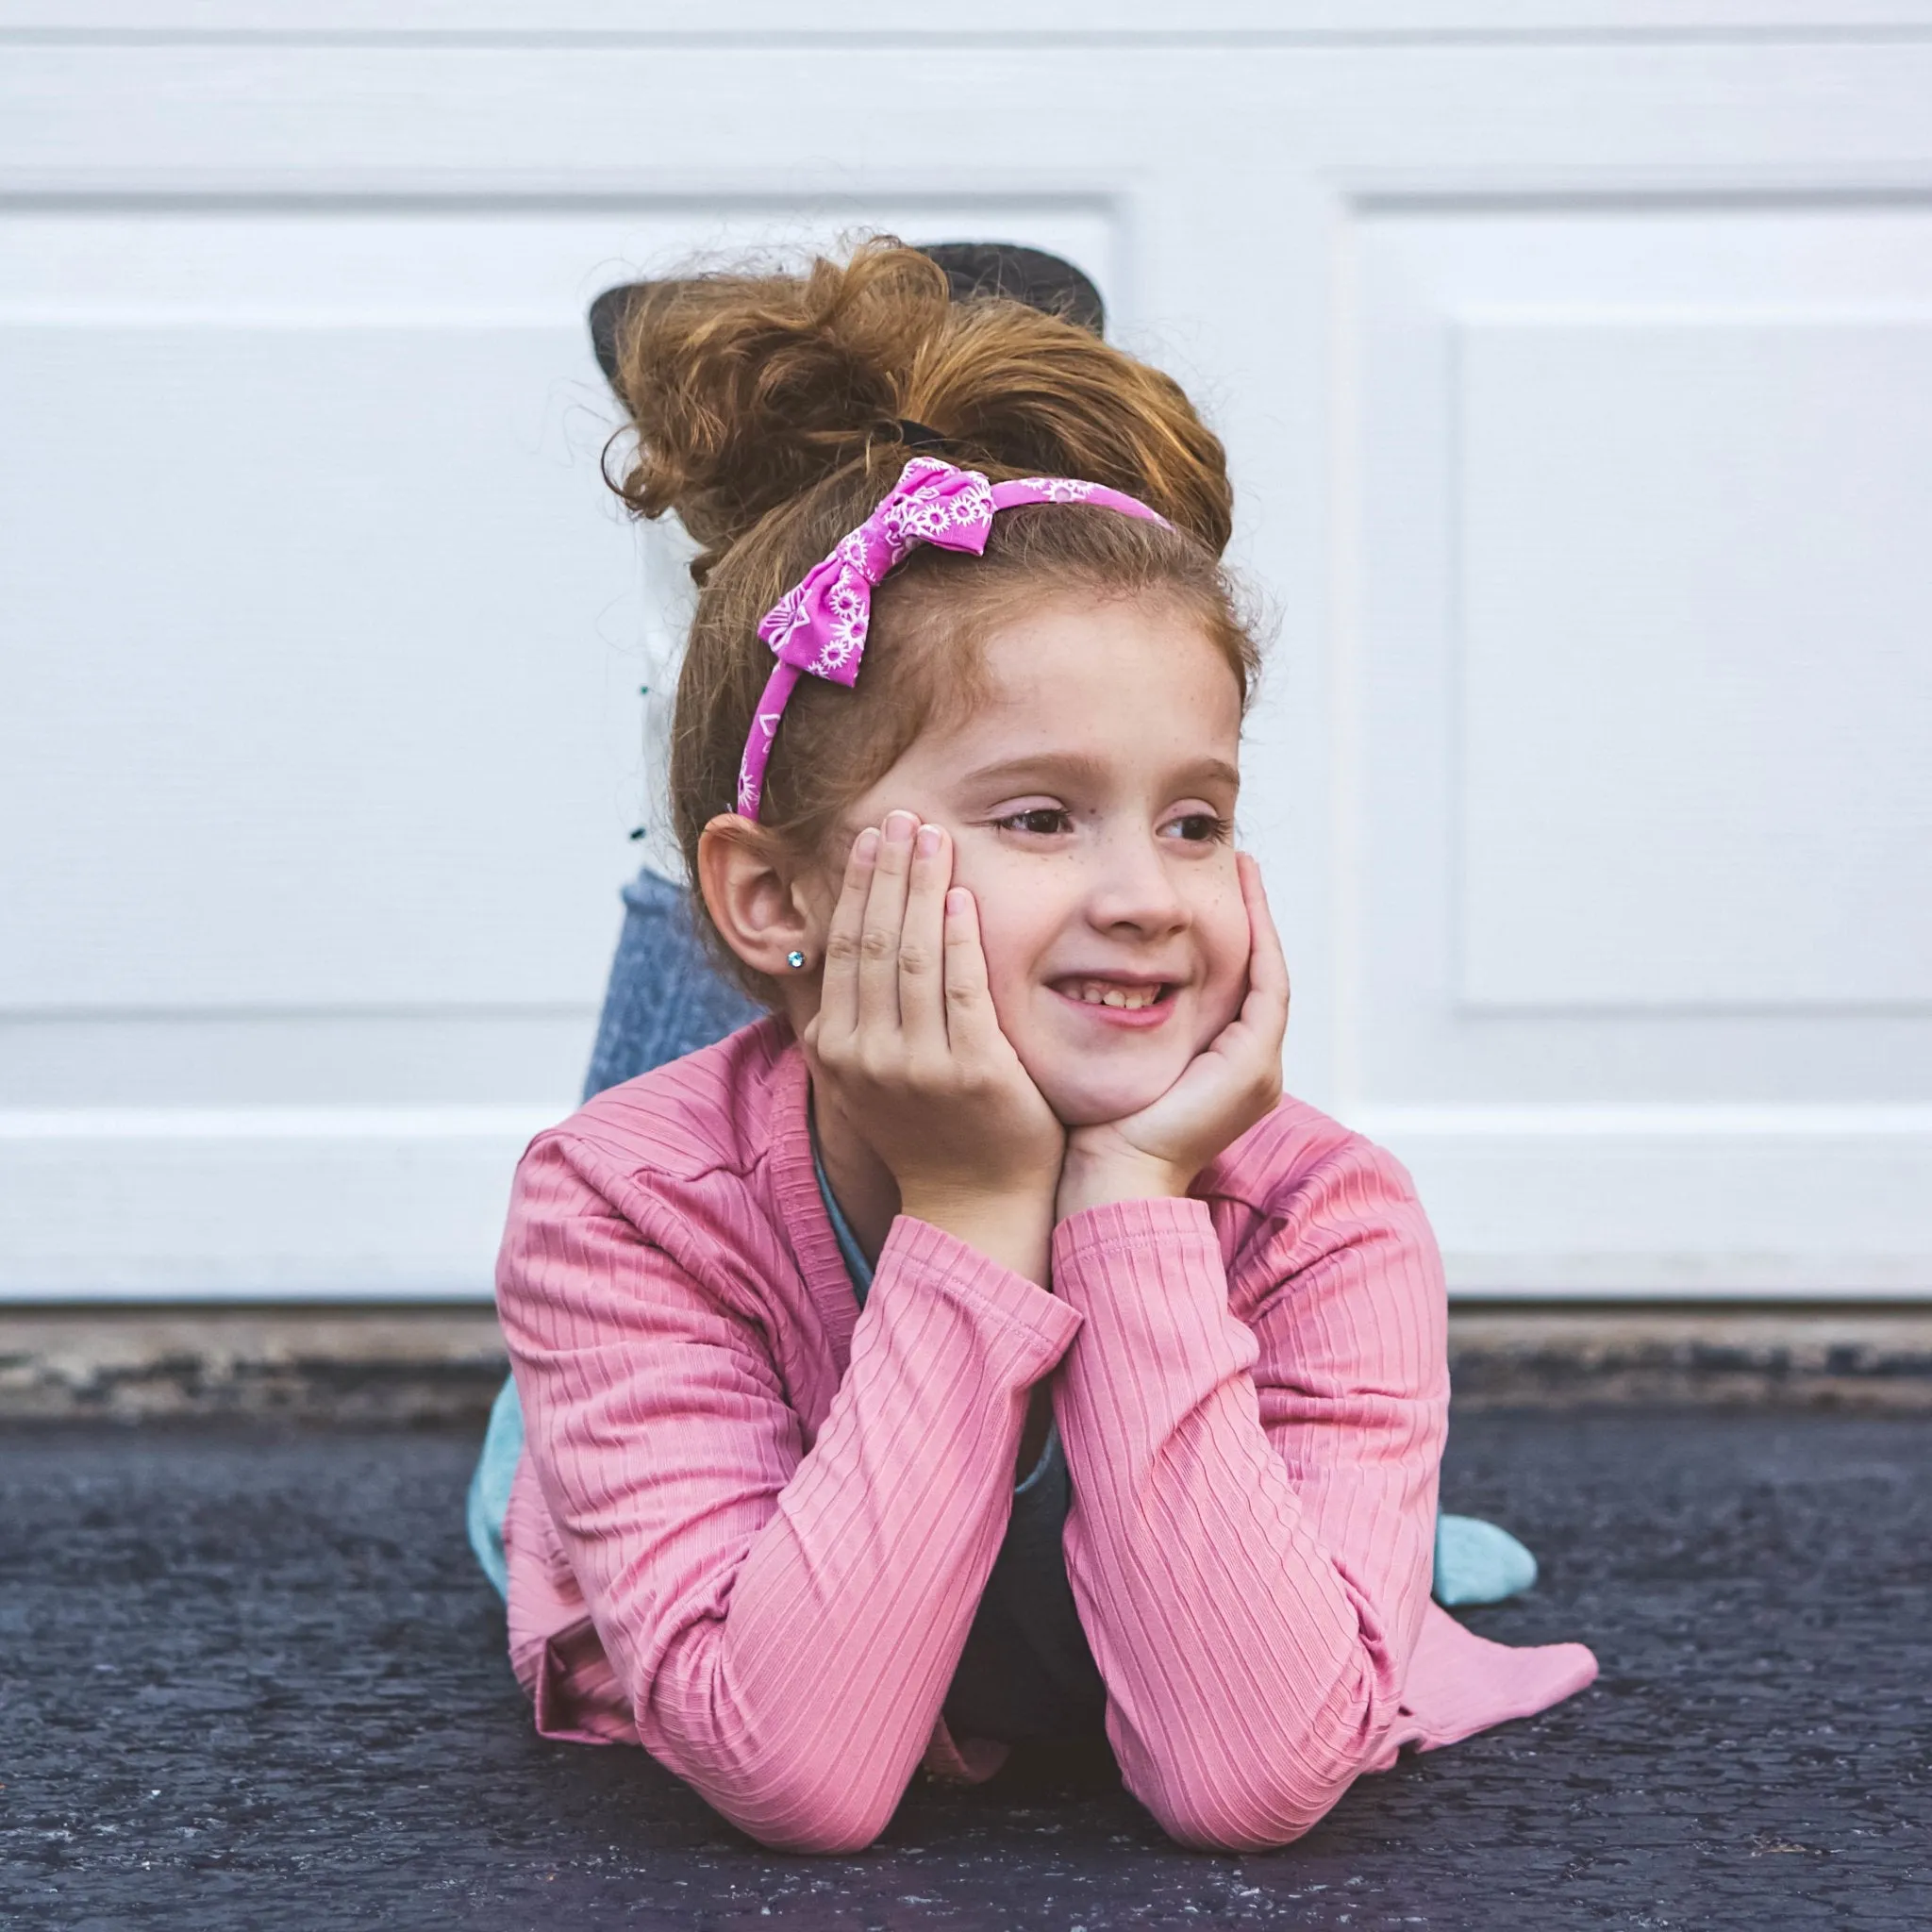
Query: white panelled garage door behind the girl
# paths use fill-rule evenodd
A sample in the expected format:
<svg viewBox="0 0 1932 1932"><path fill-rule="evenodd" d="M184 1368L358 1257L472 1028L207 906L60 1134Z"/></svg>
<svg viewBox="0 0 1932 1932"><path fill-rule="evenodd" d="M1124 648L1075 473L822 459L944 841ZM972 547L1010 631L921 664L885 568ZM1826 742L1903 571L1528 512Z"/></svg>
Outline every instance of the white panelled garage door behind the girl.
<svg viewBox="0 0 1932 1932"><path fill-rule="evenodd" d="M1488 1293L1932 1293L1932 4L0 0L0 1294L487 1291L645 811L607 282L1057 247ZM943 31L941 31L943 29Z"/></svg>

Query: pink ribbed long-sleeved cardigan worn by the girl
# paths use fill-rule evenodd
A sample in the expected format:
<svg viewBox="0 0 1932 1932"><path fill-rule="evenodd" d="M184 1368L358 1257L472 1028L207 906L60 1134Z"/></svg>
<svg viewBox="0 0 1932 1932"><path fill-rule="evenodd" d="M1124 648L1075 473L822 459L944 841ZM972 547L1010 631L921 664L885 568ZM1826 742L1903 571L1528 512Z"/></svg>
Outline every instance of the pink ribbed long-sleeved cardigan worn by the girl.
<svg viewBox="0 0 1932 1932"><path fill-rule="evenodd" d="M989 1776L941 1704L1043 1376L1107 1737L1175 1837L1285 1843L1596 1675L1430 1602L1445 1302L1389 1155L1285 1099L1196 1198L1061 1223L1051 1294L900 1217L860 1314L806 1101L767 1020L518 1169L510 1660L547 1737L641 1743L804 1851L869 1843L922 1758Z"/></svg>

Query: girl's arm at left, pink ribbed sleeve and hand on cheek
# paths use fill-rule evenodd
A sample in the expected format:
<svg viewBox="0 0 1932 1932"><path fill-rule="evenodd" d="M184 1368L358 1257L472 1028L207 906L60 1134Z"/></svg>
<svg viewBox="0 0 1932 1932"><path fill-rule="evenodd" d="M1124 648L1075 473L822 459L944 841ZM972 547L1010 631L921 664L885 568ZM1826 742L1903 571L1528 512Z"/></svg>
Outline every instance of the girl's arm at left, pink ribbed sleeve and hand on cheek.
<svg viewBox="0 0 1932 1932"><path fill-rule="evenodd" d="M498 1300L531 1457L653 1752L767 1845L850 1851L939 1719L1012 1507L1065 1136L999 1030L945 833L854 840L804 1030L904 1209L810 1455L755 1306L620 1175L524 1163ZM732 1211L721 1175L717 1211ZM643 1231L645 1238L638 1236Z"/></svg>

